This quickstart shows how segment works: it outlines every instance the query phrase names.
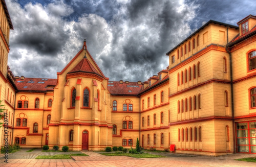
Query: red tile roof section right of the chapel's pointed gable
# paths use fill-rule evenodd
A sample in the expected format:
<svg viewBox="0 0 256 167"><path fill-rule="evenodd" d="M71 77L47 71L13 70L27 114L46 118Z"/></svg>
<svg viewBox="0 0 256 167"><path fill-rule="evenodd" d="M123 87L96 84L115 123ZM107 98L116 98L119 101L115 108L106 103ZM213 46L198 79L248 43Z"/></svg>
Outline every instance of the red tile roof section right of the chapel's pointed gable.
<svg viewBox="0 0 256 167"><path fill-rule="evenodd" d="M142 90L142 85L137 82L129 82L122 84L119 81L109 81L108 90L112 95L137 95Z"/></svg>

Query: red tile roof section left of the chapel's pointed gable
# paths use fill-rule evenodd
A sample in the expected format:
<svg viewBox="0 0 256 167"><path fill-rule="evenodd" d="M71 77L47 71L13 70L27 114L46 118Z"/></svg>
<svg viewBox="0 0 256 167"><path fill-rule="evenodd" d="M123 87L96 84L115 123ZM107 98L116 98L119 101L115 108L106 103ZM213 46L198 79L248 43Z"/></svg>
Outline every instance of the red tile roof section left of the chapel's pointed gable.
<svg viewBox="0 0 256 167"><path fill-rule="evenodd" d="M25 78L16 79L15 85L18 91L53 91L53 87L56 85L57 79L45 79L45 78ZM51 86L52 88L47 88Z"/></svg>

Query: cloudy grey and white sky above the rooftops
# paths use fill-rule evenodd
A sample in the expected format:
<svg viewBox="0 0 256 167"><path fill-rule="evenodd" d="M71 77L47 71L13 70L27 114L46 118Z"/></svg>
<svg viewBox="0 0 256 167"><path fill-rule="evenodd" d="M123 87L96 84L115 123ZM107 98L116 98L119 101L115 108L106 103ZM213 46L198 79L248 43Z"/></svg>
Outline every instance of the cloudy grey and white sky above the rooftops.
<svg viewBox="0 0 256 167"><path fill-rule="evenodd" d="M6 0L15 76L56 78L82 47L111 81L146 81L165 53L208 20L231 25L256 15L254 1Z"/></svg>

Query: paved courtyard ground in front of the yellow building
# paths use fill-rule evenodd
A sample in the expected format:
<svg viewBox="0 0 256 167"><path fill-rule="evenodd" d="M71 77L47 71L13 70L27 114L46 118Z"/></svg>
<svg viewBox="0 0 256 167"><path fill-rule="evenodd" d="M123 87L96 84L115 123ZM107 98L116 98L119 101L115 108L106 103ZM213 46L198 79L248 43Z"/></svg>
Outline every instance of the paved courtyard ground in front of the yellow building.
<svg viewBox="0 0 256 167"><path fill-rule="evenodd" d="M219 157L208 157L161 153L167 157L132 158L126 156L103 156L95 152L83 152L89 156L72 156L73 159L34 159L33 157L37 155L63 154L63 152L41 152L38 149L26 153L27 150L22 149L19 152L9 154L8 163L4 162L5 159L3 154L1 154L0 166L256 166L254 162L234 160L256 156L252 154L230 154Z"/></svg>

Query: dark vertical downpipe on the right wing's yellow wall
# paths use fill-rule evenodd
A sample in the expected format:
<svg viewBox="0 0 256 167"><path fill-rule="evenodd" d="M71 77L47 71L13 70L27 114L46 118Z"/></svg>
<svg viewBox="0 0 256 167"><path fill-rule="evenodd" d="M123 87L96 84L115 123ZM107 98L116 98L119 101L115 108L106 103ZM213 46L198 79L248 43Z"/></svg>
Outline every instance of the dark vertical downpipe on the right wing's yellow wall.
<svg viewBox="0 0 256 167"><path fill-rule="evenodd" d="M228 44L228 27L227 27L227 44ZM226 46L226 51L229 54L229 66L230 66L230 81L231 81L231 111L232 111L232 126L233 126L233 153L236 153L236 139L234 135L234 131L236 127L234 126L234 100L233 100L233 73L232 73L232 55L231 52L228 51L228 46Z"/></svg>

